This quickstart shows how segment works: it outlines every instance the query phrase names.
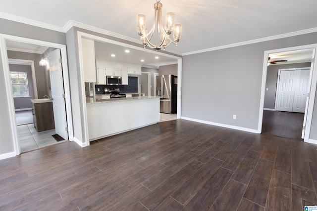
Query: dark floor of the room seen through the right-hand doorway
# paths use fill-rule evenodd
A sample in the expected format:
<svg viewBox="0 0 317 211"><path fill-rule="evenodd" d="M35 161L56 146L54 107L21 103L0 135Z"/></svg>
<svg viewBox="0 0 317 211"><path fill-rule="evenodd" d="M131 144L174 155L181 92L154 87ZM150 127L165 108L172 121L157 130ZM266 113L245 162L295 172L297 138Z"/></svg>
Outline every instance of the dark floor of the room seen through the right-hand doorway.
<svg viewBox="0 0 317 211"><path fill-rule="evenodd" d="M304 113L263 111L262 133L286 138L301 138Z"/></svg>

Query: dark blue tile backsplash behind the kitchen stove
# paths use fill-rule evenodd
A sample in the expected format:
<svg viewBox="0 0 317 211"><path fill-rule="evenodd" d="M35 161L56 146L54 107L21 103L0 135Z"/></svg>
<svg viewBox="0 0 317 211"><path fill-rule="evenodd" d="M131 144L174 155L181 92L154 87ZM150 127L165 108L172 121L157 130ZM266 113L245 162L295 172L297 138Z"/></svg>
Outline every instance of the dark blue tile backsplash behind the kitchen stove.
<svg viewBox="0 0 317 211"><path fill-rule="evenodd" d="M138 77L128 77L128 85L95 85L96 94L105 94L105 88L119 88L120 93L137 93ZM100 91L98 91L98 88Z"/></svg>

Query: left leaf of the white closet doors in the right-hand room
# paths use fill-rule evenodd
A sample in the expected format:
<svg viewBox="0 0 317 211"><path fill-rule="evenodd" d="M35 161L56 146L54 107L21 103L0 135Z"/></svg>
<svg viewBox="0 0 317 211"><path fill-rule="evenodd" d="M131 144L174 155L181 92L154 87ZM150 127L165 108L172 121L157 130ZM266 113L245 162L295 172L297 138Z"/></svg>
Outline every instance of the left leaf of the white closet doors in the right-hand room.
<svg viewBox="0 0 317 211"><path fill-rule="evenodd" d="M281 71L277 94L277 111L292 111L296 71Z"/></svg>

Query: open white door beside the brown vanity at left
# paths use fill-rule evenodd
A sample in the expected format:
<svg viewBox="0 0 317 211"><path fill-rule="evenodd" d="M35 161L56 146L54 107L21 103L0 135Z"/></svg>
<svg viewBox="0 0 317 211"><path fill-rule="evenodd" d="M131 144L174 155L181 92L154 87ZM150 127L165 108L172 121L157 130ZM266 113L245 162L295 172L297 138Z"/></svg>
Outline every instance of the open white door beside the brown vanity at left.
<svg viewBox="0 0 317 211"><path fill-rule="evenodd" d="M63 73L59 61L61 61L60 49L49 53L55 131L68 140Z"/></svg>

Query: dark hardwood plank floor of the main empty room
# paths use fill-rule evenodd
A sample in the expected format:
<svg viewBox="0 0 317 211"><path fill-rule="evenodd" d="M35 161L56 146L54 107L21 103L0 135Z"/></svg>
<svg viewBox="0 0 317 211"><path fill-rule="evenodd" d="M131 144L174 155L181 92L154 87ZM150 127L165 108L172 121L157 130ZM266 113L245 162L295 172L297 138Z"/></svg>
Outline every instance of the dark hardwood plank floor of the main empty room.
<svg viewBox="0 0 317 211"><path fill-rule="evenodd" d="M173 120L0 161L1 211L303 211L317 145Z"/></svg>

